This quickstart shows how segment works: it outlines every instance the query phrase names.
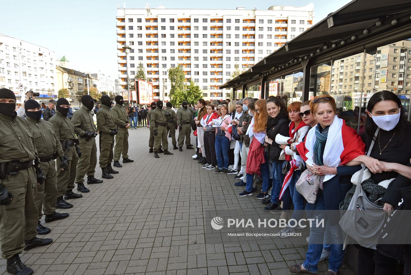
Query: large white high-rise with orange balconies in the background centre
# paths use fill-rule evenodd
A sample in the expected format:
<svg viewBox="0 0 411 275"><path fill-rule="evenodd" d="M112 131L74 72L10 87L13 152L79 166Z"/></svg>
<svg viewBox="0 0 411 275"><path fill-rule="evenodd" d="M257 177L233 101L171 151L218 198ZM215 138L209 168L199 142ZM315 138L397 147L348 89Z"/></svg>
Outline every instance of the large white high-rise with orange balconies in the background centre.
<svg viewBox="0 0 411 275"><path fill-rule="evenodd" d="M121 88L127 89L141 62L154 98L169 100L168 69L180 65L185 81L197 83L206 99L239 68L245 71L314 23L314 6L245 9L118 8L117 56ZM122 48L131 48L126 55Z"/></svg>

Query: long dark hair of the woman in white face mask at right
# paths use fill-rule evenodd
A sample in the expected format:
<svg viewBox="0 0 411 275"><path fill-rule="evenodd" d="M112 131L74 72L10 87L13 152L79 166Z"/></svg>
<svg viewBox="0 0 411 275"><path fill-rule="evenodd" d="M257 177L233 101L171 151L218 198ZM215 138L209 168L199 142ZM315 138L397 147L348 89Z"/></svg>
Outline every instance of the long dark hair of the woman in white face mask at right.
<svg viewBox="0 0 411 275"><path fill-rule="evenodd" d="M400 141L403 141L407 134L407 126L409 126L409 122L406 121L404 118L404 109L402 109L402 104L401 100L390 91L387 90L382 90L380 92L376 92L370 99L367 105L367 111L371 112L372 109L374 109L375 104L377 104L380 101L383 100L392 100L395 103L397 103L399 107L399 121L397 125L395 126L394 130L398 134ZM377 125L375 124L374 120L372 118L367 117L367 120L365 121L365 134L367 135L367 138L371 140L374 137L375 131L377 129Z"/></svg>

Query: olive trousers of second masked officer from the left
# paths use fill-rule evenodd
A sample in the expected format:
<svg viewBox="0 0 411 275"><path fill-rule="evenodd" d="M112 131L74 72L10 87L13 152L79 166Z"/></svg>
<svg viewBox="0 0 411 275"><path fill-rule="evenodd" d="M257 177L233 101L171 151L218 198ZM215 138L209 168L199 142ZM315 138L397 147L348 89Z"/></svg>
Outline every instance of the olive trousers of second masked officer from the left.
<svg viewBox="0 0 411 275"><path fill-rule="evenodd" d="M55 171L55 162L41 162L42 171L44 174L44 183L37 185L37 193L34 196L34 201L39 212L39 220L44 215L51 215L55 211L55 203L57 201L57 172Z"/></svg>

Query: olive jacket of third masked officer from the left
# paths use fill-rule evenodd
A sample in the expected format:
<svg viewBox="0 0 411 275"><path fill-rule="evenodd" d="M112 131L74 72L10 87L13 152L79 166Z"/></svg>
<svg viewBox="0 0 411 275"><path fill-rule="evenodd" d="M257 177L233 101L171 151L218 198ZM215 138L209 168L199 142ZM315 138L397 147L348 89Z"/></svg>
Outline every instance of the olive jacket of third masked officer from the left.
<svg viewBox="0 0 411 275"><path fill-rule="evenodd" d="M54 126L54 131L57 136L57 139L61 141L76 141L76 134L74 133L74 125L73 122L67 118L67 116L63 116L59 111L55 112L55 115L48 120ZM75 146L71 146L69 150L67 148L64 149L64 153L72 160L74 158L78 158Z"/></svg>

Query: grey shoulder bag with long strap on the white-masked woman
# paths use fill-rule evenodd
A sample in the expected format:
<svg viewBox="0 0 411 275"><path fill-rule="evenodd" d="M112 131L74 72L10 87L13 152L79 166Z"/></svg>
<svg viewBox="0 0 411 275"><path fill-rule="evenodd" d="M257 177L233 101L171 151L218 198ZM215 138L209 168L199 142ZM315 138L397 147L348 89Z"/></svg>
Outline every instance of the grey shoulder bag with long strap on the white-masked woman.
<svg viewBox="0 0 411 275"><path fill-rule="evenodd" d="M380 128L377 128L374 134L367 156L371 153L379 129ZM344 241L344 248L346 244L349 243L349 238L352 238L363 247L376 249L381 228L386 221L386 213L383 207L369 201L363 191L363 187L361 187L364 169L365 165L363 164L356 191L346 212L339 221L342 230L347 234Z"/></svg>

